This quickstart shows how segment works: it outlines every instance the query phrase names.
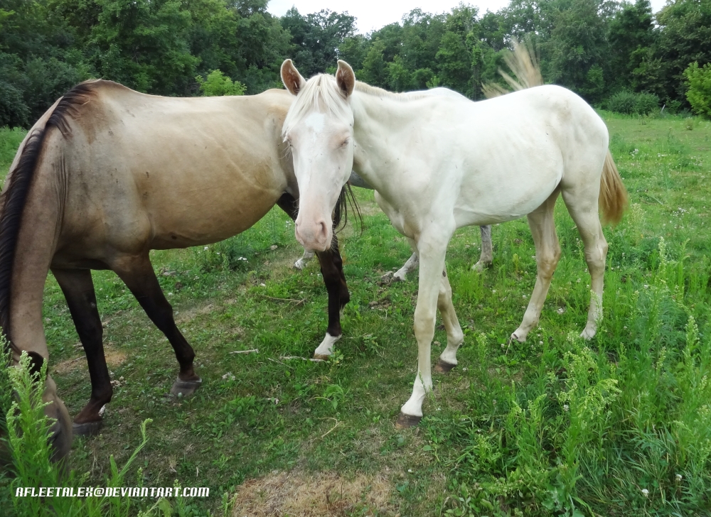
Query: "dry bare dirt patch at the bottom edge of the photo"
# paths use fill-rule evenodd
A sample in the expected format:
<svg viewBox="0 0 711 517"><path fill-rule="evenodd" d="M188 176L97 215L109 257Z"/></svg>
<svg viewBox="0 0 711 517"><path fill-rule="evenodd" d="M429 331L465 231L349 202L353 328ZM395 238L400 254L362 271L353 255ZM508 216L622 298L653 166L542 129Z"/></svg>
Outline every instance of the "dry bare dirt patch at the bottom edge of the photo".
<svg viewBox="0 0 711 517"><path fill-rule="evenodd" d="M354 510L392 512L392 484L383 474L272 472L245 481L235 494L232 517L336 517Z"/></svg>

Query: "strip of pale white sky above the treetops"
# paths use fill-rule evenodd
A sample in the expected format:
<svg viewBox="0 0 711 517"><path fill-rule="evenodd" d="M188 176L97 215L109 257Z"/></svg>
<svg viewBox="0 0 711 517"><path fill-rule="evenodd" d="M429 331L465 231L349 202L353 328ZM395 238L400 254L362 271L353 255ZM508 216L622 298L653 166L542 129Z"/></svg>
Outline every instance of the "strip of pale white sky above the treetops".
<svg viewBox="0 0 711 517"><path fill-rule="evenodd" d="M449 12L461 0L270 0L267 11L283 16L292 6L299 9L299 13L316 13L321 9L331 11L348 11L355 16L359 33L367 33L386 26L388 23L400 21L402 15L412 9L422 9L428 13ZM465 4L479 7L479 12L498 11L508 5L508 0L467 0ZM661 9L665 0L651 0L652 11Z"/></svg>

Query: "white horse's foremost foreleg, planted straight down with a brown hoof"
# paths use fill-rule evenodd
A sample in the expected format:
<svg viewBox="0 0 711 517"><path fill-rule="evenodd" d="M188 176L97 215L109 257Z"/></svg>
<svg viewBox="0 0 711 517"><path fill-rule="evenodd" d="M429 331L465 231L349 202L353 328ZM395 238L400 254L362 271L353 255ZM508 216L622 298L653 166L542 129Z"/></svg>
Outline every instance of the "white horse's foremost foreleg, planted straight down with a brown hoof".
<svg viewBox="0 0 711 517"><path fill-rule="evenodd" d="M444 255L447 252L449 235L420 236L419 249L419 289L415 308L415 337L417 338L417 377L412 388L412 396L400 409L397 427L417 425L422 419L424 397L432 390L432 338L437 315L437 299L444 271ZM443 239L443 237L446 237Z"/></svg>

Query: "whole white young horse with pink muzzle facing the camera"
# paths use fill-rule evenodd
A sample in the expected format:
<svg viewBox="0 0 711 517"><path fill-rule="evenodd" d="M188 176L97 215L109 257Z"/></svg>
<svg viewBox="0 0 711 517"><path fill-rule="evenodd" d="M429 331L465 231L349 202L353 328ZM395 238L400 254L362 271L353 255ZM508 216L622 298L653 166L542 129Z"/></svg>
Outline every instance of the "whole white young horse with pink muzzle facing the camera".
<svg viewBox="0 0 711 517"><path fill-rule="evenodd" d="M331 212L355 170L375 188L380 208L418 252L417 377L398 425L415 425L422 418L422 403L432 388L437 308L447 330L439 365L445 371L456 365L464 334L444 258L459 227L528 216L538 276L523 322L511 334L525 341L538 322L560 257L553 207L562 194L591 275L582 336L594 336L602 317L607 253L598 205L605 219L617 222L626 192L608 151L606 126L584 100L552 85L483 102L392 94L356 82L344 61L338 61L335 78L316 75L306 82L286 60L282 81L296 96L282 131L301 194L296 239L306 249L329 246Z"/></svg>

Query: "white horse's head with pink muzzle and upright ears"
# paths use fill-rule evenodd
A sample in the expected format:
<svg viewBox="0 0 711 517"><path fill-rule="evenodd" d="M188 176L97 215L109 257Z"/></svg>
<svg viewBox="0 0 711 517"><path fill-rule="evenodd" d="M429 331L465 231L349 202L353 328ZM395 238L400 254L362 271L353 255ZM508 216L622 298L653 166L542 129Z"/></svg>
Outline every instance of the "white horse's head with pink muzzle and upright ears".
<svg viewBox="0 0 711 517"><path fill-rule="evenodd" d="M293 124L289 124L287 116L287 123L284 124L284 139L291 148L294 174L296 182L299 183L296 240L306 249L324 251L331 247L331 214L343 185L346 185L351 176L354 146L353 112L350 107L339 106L339 112L348 114L343 117L337 116L323 104L347 104L348 96L355 85L355 75L347 63L339 61L336 82L317 76L311 81L326 80L327 83L307 86L292 61L286 60L282 65L282 80L294 95L299 94L302 89L306 89L304 94L311 94L315 87L333 88L333 92L326 92L331 95L321 97L321 105L311 104L309 109L299 113ZM292 104L292 109L299 109L298 101Z"/></svg>

